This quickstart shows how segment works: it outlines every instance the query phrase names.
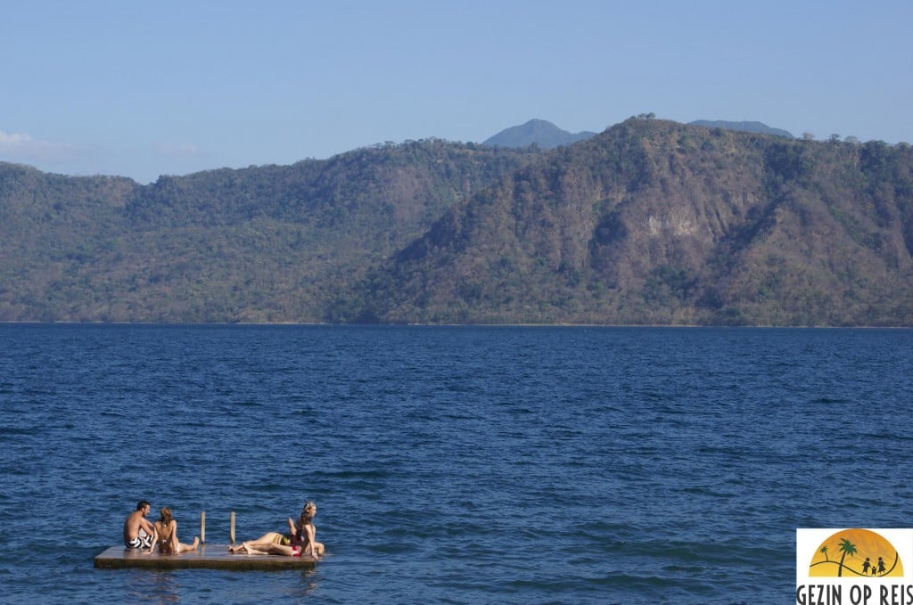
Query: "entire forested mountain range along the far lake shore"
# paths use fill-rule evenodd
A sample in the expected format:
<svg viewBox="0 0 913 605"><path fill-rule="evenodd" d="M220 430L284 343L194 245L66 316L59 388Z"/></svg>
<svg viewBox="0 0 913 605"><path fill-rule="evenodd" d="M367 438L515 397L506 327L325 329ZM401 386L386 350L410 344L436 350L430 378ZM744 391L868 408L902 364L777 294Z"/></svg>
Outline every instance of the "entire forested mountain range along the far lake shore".
<svg viewBox="0 0 913 605"><path fill-rule="evenodd" d="M913 151L631 119L151 185L0 163L0 320L913 325Z"/></svg>

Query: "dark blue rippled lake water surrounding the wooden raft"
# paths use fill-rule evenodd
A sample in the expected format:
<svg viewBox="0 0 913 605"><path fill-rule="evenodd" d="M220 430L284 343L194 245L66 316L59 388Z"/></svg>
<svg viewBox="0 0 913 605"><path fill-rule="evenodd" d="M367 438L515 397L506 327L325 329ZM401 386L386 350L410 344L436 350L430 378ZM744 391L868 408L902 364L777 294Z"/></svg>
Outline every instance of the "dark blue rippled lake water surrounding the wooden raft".
<svg viewBox="0 0 913 605"><path fill-rule="evenodd" d="M0 325L0 599L776 603L911 527L913 331ZM136 501L309 572L93 568ZM154 516L154 515L153 515Z"/></svg>

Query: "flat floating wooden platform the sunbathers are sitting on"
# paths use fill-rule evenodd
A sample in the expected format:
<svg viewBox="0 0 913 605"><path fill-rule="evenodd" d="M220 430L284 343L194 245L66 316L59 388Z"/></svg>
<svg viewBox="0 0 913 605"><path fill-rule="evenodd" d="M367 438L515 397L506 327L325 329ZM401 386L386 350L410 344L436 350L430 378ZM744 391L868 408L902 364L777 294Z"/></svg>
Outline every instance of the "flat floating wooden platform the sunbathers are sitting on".
<svg viewBox="0 0 913 605"><path fill-rule="evenodd" d="M201 544L192 552L180 555L146 554L135 548L111 547L95 558L95 567L106 569L237 569L269 571L273 569L309 569L316 558L310 556L233 555L227 544Z"/></svg>

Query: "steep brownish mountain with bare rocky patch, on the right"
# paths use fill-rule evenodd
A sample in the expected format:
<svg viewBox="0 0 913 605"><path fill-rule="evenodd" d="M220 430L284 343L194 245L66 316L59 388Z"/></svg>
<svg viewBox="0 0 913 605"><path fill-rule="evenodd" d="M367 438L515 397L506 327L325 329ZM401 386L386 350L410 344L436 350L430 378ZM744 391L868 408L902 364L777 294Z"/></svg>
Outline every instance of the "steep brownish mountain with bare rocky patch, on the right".
<svg viewBox="0 0 913 605"><path fill-rule="evenodd" d="M387 267L390 321L913 320L913 155L628 120L457 206Z"/></svg>

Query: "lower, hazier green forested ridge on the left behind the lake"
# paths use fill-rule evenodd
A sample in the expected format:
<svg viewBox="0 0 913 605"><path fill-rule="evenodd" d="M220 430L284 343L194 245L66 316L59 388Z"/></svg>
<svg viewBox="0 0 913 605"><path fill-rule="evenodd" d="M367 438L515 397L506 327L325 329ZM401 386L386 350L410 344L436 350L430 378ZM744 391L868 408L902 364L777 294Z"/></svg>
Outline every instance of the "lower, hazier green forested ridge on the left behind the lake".
<svg viewBox="0 0 913 605"><path fill-rule="evenodd" d="M150 185L0 163L0 320L320 322L446 208L537 158L409 141Z"/></svg>

